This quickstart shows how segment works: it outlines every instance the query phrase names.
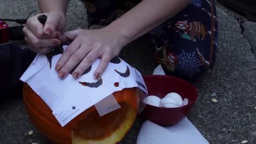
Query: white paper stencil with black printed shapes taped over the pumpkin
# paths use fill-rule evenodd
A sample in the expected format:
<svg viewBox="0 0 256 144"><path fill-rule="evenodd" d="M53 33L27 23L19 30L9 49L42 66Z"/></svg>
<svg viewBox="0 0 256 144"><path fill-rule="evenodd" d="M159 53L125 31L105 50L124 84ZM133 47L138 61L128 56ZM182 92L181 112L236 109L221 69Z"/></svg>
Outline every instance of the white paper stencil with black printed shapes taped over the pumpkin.
<svg viewBox="0 0 256 144"><path fill-rule="evenodd" d="M63 50L66 47L63 46ZM139 87L147 93L141 74L118 57L110 61L97 80L94 79L94 71L100 64L100 59L96 59L79 79L76 80L69 74L61 80L55 71L55 65L61 57L60 53L59 51L59 54L56 54L56 51L53 51L50 56L37 55L20 80L27 82L44 100L62 126L123 88ZM106 111L101 113L104 114Z"/></svg>

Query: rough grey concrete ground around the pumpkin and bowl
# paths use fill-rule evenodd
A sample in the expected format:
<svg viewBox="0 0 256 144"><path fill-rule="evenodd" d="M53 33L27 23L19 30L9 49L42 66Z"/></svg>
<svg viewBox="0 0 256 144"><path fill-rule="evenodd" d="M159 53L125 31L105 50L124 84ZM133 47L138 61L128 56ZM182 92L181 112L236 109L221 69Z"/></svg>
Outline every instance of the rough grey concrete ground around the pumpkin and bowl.
<svg viewBox="0 0 256 144"><path fill-rule="evenodd" d="M86 27L83 3L72 0L68 8L68 30ZM37 10L36 0L1 0L0 17L26 18ZM188 118L210 143L256 143L256 22L217 3L219 46L217 62L210 74L193 85L199 92ZM10 26L15 23L8 22ZM16 42L15 42L16 43ZM126 46L120 57L143 75L152 74L155 63L146 38ZM22 45L22 43L21 43ZM139 47L139 49L138 49ZM144 52L147 51L147 55ZM256 56L256 55L255 55ZM212 103L211 98L218 99ZM143 123L137 118L120 143L136 143ZM28 131L33 130L32 136ZM21 98L0 102L0 143L50 143L28 119Z"/></svg>

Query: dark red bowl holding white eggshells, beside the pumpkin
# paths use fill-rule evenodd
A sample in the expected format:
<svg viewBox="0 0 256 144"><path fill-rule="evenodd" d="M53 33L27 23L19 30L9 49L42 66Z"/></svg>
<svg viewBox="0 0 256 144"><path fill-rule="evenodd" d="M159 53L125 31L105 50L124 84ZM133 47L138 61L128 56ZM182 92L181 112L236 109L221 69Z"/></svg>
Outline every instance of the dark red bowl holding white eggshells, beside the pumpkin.
<svg viewBox="0 0 256 144"><path fill-rule="evenodd" d="M148 88L148 95L164 98L166 94L175 92L181 95L182 99L187 98L189 100L188 105L175 108L146 105L139 116L162 126L172 125L181 121L188 115L198 97L196 88L193 85L176 77L149 75L143 76L143 79Z"/></svg>

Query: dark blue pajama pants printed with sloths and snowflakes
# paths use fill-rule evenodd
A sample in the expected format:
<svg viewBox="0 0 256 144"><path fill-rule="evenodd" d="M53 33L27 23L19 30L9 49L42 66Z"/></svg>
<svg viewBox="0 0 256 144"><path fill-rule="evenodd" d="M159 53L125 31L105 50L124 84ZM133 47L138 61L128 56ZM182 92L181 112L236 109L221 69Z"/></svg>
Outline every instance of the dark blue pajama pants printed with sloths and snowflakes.
<svg viewBox="0 0 256 144"><path fill-rule="evenodd" d="M108 25L117 9L129 10L139 1L84 0L89 27ZM214 0L194 0L182 11L148 33L155 62L167 75L199 79L213 68L218 44L218 20Z"/></svg>

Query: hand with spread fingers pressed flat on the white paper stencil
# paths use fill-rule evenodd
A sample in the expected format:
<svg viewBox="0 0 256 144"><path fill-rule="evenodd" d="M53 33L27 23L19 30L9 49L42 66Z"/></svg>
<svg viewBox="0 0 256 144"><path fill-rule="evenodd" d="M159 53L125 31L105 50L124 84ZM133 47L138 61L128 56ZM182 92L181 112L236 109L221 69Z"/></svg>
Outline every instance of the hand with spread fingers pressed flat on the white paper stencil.
<svg viewBox="0 0 256 144"><path fill-rule="evenodd" d="M64 79L77 65L72 76L78 79L97 58L101 58L100 65L94 72L94 77L97 79L103 74L109 61L118 56L121 49L127 44L127 40L114 31L109 31L106 27L65 32L61 35L60 40L62 43L73 40L55 67L61 79Z"/></svg>

